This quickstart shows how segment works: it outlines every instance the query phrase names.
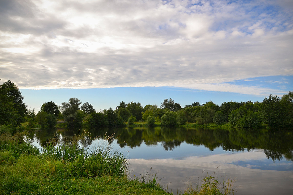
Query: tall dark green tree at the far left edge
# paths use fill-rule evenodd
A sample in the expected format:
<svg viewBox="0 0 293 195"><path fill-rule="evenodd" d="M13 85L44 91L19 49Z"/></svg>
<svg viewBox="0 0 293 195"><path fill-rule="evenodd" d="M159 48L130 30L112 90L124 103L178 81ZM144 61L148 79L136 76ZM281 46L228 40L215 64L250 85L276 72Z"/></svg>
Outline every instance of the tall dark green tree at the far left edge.
<svg viewBox="0 0 293 195"><path fill-rule="evenodd" d="M0 125L18 126L24 122L27 106L18 87L8 80L0 85Z"/></svg>

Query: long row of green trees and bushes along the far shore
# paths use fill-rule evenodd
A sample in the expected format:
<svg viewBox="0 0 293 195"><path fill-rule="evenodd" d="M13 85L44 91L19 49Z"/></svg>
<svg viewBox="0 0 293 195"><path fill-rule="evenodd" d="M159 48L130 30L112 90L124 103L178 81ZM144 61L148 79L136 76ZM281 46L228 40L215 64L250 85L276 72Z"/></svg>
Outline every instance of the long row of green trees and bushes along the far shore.
<svg viewBox="0 0 293 195"><path fill-rule="evenodd" d="M220 106L212 101L193 102L181 107L173 99L164 99L161 106L122 101L115 110L113 108L97 112L93 105L82 103L78 98L70 98L61 105L50 101L41 105L35 114L22 102L23 96L18 87L8 80L0 85L0 125L11 127L54 127L57 120L64 120L68 127L124 126L136 121L145 121L149 126L160 122L162 126L227 124L231 127L259 128L292 127L293 125L293 93L281 98L270 94L262 102L223 102Z"/></svg>

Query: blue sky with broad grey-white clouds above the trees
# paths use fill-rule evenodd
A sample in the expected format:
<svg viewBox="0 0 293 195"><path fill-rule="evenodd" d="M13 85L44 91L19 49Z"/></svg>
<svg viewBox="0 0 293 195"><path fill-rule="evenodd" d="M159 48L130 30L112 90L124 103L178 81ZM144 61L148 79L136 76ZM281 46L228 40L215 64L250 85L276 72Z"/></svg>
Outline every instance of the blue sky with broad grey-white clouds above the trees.
<svg viewBox="0 0 293 195"><path fill-rule="evenodd" d="M0 0L0 79L28 108L293 91L293 1Z"/></svg>

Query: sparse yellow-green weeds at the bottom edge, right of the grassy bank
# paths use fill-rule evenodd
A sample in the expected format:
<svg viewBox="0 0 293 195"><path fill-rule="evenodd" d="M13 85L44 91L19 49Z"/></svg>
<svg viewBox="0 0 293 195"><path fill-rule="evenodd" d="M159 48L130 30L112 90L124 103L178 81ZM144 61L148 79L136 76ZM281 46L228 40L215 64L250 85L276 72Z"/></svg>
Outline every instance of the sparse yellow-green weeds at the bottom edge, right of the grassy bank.
<svg viewBox="0 0 293 195"><path fill-rule="evenodd" d="M223 182L221 183L214 174L215 172L212 175L207 173L207 176L200 180L201 184L188 182L183 195L230 195L236 193L235 188L233 188L235 180L227 179L227 175L224 173L224 176L222 176Z"/></svg>

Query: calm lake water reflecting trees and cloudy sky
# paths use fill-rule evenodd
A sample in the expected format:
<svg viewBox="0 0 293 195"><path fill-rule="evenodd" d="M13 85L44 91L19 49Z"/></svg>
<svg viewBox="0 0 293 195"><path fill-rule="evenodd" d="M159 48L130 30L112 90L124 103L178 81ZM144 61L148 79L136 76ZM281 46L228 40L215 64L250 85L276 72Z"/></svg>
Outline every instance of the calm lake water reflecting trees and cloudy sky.
<svg viewBox="0 0 293 195"><path fill-rule="evenodd" d="M105 134L129 158L130 176L144 171L157 174L167 191L177 194L188 182L207 173L222 182L224 174L236 182L236 194L292 194L293 133L285 130L221 130L168 127L87 129L81 142L95 149ZM30 132L28 141L44 146L53 137L71 138L79 130L50 129ZM150 171L151 170L151 171Z"/></svg>

